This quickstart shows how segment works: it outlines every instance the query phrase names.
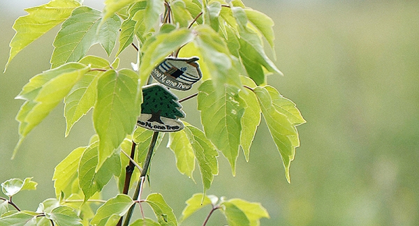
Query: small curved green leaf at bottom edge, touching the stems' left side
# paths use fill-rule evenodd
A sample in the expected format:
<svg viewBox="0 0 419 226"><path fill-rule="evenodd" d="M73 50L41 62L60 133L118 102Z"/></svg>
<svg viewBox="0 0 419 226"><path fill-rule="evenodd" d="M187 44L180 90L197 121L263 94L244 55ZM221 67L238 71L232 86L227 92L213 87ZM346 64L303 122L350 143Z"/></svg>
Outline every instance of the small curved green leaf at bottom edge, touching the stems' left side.
<svg viewBox="0 0 419 226"><path fill-rule="evenodd" d="M135 204L128 195L119 194L105 202L99 207L96 215L91 219L91 225L105 225L112 214L124 216L128 209Z"/></svg>

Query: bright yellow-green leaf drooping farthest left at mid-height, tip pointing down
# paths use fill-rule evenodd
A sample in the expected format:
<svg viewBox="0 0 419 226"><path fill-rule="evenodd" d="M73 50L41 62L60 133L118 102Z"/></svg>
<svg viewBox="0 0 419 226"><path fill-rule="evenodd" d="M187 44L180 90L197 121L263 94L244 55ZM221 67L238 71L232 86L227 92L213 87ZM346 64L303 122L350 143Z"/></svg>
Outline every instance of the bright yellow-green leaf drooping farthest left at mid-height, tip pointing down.
<svg viewBox="0 0 419 226"><path fill-rule="evenodd" d="M59 68L47 70L29 80L23 86L17 99L27 100L17 113L19 121L20 140L17 143L13 156L24 140L24 137L67 95L80 78L87 73L89 67L81 63L66 63Z"/></svg>

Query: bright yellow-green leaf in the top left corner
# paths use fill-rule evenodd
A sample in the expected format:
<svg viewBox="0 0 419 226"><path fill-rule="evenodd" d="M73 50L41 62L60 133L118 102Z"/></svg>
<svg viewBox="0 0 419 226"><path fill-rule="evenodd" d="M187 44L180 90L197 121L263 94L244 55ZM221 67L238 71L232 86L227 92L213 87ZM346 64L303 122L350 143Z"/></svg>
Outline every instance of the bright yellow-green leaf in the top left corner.
<svg viewBox="0 0 419 226"><path fill-rule="evenodd" d="M78 1L52 0L42 6L25 9L29 14L17 18L13 24L16 33L10 41L10 56L5 70L18 52L66 20L71 11L78 6L80 6Z"/></svg>

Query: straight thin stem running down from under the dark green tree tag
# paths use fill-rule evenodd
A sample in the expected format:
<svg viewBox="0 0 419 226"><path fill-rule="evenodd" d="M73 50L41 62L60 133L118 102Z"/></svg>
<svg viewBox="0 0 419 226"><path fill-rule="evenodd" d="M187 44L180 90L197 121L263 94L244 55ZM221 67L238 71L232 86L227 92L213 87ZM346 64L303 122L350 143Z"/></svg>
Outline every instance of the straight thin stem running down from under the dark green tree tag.
<svg viewBox="0 0 419 226"><path fill-rule="evenodd" d="M140 197L140 194L142 193L142 186L144 186L144 181L145 181L145 176L147 176L147 171L149 169L151 160L152 160L152 156L153 156L153 151L154 151L154 146L156 146L156 142L157 142L157 137L159 137L159 132L154 131L153 133L153 137L152 137L152 141L150 142L149 145L149 150L147 151L147 156L145 157L145 161L144 161L144 166L142 167L142 171L140 174L140 182L138 183L137 188L135 188L135 192L133 195L133 200L138 200ZM131 217L133 216L133 211L134 211L135 205L131 206L130 209L128 209L128 213L126 213L126 219L124 222L124 226L128 226L129 225L129 221L131 220ZM141 205L140 208L142 209Z"/></svg>

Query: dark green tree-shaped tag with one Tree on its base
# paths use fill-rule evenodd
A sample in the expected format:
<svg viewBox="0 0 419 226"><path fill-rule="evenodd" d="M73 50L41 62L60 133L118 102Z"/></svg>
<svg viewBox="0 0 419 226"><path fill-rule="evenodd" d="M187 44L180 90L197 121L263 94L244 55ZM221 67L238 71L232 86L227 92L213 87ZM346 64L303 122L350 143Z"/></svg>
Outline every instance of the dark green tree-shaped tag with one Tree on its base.
<svg viewBox="0 0 419 226"><path fill-rule="evenodd" d="M161 84L150 84L142 88L143 102L137 125L149 130L175 132L182 130L184 124L179 118L185 113L180 109L175 94Z"/></svg>

